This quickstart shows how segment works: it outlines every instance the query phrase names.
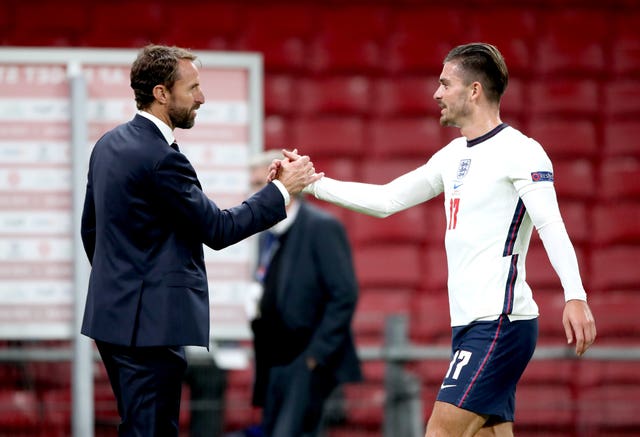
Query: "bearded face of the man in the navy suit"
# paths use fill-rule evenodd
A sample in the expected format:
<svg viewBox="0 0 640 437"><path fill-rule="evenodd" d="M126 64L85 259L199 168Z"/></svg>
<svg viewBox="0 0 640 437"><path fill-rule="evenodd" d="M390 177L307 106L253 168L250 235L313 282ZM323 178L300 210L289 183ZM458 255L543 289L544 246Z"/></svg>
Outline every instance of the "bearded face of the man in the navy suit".
<svg viewBox="0 0 640 437"><path fill-rule="evenodd" d="M198 69L193 62L182 59L178 79L170 91L167 112L174 128L189 129L196 121L196 111L204 103Z"/></svg>

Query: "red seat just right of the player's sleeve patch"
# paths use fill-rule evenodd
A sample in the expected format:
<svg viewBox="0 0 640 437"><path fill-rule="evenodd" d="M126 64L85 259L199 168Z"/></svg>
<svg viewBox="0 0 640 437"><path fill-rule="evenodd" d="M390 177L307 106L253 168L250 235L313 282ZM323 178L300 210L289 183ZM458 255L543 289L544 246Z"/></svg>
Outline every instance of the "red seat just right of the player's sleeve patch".
<svg viewBox="0 0 640 437"><path fill-rule="evenodd" d="M558 197L591 199L596 192L596 174L587 159L556 160L553 163L553 184Z"/></svg>

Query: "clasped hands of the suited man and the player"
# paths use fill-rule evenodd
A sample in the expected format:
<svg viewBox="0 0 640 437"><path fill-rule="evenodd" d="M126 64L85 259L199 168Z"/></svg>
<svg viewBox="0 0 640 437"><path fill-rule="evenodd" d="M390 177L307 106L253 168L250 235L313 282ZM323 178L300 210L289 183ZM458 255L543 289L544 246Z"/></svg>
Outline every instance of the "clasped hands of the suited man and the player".
<svg viewBox="0 0 640 437"><path fill-rule="evenodd" d="M289 194L298 194L304 187L321 179L324 173L316 173L311 159L298 155L298 149L282 150L283 159L274 159L269 165L267 182L279 180Z"/></svg>

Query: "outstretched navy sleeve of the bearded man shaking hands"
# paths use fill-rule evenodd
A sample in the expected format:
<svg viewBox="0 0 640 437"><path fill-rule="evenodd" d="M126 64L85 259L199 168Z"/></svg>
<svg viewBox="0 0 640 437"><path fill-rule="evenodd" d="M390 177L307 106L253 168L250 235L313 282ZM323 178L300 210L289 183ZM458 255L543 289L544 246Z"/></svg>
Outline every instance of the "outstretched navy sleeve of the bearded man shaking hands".
<svg viewBox="0 0 640 437"><path fill-rule="evenodd" d="M223 249L286 217L284 199L268 184L249 199L220 209L200 186L196 172L180 153L169 153L155 171L158 203L177 226L213 249Z"/></svg>

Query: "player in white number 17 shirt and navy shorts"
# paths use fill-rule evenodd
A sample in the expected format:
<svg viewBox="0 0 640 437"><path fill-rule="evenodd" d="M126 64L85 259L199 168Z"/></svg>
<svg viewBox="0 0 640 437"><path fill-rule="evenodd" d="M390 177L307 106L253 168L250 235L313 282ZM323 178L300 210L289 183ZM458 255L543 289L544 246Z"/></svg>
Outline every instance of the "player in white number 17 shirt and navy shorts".
<svg viewBox="0 0 640 437"><path fill-rule="evenodd" d="M452 355L426 436L512 436L516 384L538 338L538 307L525 281L534 226L562 283L562 323L578 356L595 340L595 321L551 161L538 142L500 119L508 83L502 55L490 44L458 46L439 83L433 97L440 124L459 128L461 137L388 184L324 177L305 192L377 217L444 193Z"/></svg>

